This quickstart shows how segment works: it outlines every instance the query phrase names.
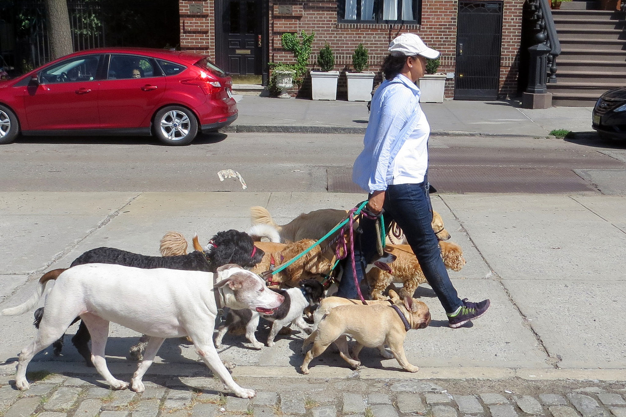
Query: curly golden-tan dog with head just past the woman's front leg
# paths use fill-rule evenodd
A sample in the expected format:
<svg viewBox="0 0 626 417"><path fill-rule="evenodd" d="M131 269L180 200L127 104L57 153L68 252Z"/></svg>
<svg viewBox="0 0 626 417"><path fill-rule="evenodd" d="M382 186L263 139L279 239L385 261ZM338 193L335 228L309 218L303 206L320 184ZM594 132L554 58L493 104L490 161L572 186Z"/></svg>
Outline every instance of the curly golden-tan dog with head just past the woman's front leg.
<svg viewBox="0 0 626 417"><path fill-rule="evenodd" d="M453 271L460 271L465 265L463 258L463 249L453 242L439 242L441 249L441 258L446 268ZM385 246L385 250L396 255L396 260L391 263L392 274L381 269L374 268L367 273L367 283L371 289L371 295L374 299L384 299L382 292L391 283L403 283L398 293L401 297L412 297L419 284L426 282L426 277L419 266L418 259L415 257L411 246L408 244L389 244Z"/></svg>

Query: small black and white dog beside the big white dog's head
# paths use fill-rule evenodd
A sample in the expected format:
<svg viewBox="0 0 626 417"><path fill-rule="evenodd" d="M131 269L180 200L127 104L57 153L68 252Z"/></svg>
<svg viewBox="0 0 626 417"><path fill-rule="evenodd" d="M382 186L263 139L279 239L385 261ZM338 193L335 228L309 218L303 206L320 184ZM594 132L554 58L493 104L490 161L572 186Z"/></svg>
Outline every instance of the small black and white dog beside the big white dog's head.
<svg viewBox="0 0 626 417"><path fill-rule="evenodd" d="M273 322L267 337L267 346L274 346L274 339L279 330L292 323L305 333L310 334L311 328L305 323L302 314L307 306L319 306L322 298L324 298L324 286L316 279L303 279L298 288L274 289L272 291L276 291L285 298L285 301L280 304L274 314L265 315L250 310L229 310L226 322L220 326L217 336L215 336L215 347L220 348L222 346L222 339L228 329L245 326L245 337L255 349L262 348L263 343L260 343L254 335L257 326L259 326L260 317Z"/></svg>

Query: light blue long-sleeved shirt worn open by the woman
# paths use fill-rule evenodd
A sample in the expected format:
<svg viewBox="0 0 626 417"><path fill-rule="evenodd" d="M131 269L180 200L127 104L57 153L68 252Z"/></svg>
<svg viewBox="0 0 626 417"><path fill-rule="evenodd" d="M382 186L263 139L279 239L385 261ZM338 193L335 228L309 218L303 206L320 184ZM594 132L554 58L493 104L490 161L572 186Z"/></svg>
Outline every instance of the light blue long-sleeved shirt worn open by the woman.
<svg viewBox="0 0 626 417"><path fill-rule="evenodd" d="M352 181L368 193L387 189L393 181L393 161L416 128L422 110L419 88L398 74L385 80L372 97L364 149L352 168Z"/></svg>

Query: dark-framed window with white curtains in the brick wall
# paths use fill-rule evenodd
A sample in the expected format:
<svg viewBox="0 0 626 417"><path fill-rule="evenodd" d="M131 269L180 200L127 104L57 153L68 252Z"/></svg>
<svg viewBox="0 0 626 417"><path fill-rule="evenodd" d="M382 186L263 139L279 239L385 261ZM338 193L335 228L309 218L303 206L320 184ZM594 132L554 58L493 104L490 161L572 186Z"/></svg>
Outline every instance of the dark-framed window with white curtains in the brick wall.
<svg viewBox="0 0 626 417"><path fill-rule="evenodd" d="M337 0L340 23L419 24L420 0Z"/></svg>

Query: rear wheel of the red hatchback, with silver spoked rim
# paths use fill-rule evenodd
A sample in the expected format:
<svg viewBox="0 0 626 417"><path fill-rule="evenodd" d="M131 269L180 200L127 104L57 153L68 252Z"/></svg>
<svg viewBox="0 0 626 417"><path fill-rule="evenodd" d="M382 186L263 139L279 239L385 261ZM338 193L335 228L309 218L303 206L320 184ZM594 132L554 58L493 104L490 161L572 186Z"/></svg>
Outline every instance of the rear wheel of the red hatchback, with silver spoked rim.
<svg viewBox="0 0 626 417"><path fill-rule="evenodd" d="M155 114L152 126L153 134L166 145L188 145L198 134L195 114L182 106L167 106L160 109Z"/></svg>

